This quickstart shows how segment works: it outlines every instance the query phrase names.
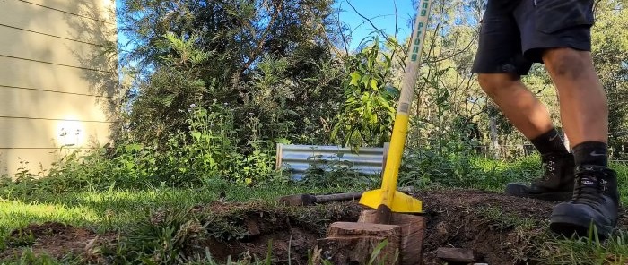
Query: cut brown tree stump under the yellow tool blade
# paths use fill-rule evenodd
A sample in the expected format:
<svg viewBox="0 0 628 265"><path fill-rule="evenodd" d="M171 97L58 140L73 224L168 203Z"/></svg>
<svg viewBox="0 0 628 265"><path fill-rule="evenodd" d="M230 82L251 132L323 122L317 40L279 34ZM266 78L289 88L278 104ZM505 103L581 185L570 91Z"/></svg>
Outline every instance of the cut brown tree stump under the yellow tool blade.
<svg viewBox="0 0 628 265"><path fill-rule="evenodd" d="M374 224L375 210L362 211L357 222L336 222L327 230L327 237L318 239L314 264L323 260L335 265L367 264L371 254L379 251L376 264L415 265L423 261L425 218L393 213L388 225Z"/></svg>

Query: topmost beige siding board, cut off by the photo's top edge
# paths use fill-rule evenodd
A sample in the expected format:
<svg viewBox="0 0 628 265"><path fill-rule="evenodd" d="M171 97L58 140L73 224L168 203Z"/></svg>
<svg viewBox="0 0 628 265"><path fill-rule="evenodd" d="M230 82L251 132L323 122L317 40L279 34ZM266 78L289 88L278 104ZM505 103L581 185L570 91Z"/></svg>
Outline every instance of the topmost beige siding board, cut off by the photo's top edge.
<svg viewBox="0 0 628 265"><path fill-rule="evenodd" d="M107 10L115 7L114 0L18 0L23 3L35 4L64 13L71 13L97 21L111 23L106 17Z"/></svg>

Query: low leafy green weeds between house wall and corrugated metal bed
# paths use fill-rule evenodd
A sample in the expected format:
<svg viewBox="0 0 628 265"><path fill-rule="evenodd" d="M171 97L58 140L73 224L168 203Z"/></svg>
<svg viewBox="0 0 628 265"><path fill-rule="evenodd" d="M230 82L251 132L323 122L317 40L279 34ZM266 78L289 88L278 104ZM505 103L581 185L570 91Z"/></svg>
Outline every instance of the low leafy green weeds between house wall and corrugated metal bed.
<svg viewBox="0 0 628 265"><path fill-rule="evenodd" d="M245 185L283 182L275 172L272 147L256 139L258 121L249 123L252 140L240 148L229 107L216 103L205 109L192 104L186 110L179 109L179 114L187 117L188 130L169 133L160 149L129 142L115 147L73 150L48 169L47 177L39 179L25 168L14 184L0 183L5 187L2 192L10 193L16 187L47 192L197 187L215 179Z"/></svg>

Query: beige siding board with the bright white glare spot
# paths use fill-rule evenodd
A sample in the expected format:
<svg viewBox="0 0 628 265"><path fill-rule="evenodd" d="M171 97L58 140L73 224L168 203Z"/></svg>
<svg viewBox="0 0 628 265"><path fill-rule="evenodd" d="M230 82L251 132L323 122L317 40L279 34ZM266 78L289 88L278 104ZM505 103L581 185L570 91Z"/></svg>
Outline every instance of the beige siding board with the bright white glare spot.
<svg viewBox="0 0 628 265"><path fill-rule="evenodd" d="M107 141L110 123L74 122L75 114L66 116L68 121L4 118L0 117L0 149L45 149L58 148L76 140L76 129L80 130L79 140L88 143L90 139ZM65 132L68 135L59 136Z"/></svg>

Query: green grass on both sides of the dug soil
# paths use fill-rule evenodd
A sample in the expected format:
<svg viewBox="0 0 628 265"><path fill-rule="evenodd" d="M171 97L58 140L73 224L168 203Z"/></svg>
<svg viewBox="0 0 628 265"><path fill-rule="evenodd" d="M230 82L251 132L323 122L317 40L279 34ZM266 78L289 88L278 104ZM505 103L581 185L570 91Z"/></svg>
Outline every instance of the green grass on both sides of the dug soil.
<svg viewBox="0 0 628 265"><path fill-rule="evenodd" d="M536 177L541 171L537 165L537 158L522 158L515 162L493 161L484 158L473 158L470 160L470 167L473 167L473 174L468 175L469 180L462 180L458 187L470 187L495 192L502 192L503 186L511 181L529 181ZM628 202L628 166L613 164L618 173L621 201ZM437 180L437 179L435 179ZM436 183L436 182L435 182ZM472 183L472 184L470 184ZM454 183L456 184L456 183ZM345 187L344 187L345 186ZM106 191L83 190L75 192L49 193L46 189L39 190L37 187L28 186L6 186L0 190L0 250L7 244L23 245L23 252L20 256L14 256L0 261L2 264L73 264L80 259L71 253L57 260L46 254L35 253L30 249L32 238L30 235L17 237L20 242L8 242L9 233L25 227L29 224L43 223L46 221L62 222L74 227L88 227L97 233L107 231L138 231L138 226L147 223L147 218L163 209L190 209L197 205L204 205L210 201L219 199L221 192L224 192L223 200L226 201L262 201L266 206L273 207L272 201L275 198L294 193L327 193L327 192L354 192L361 191L362 188L351 187L351 184L338 183L336 186L316 186L316 185L295 185L295 184L274 184L261 187L247 187L242 185L231 185L222 182L207 184L202 188L172 188L167 186L145 188L142 190L118 190L110 189ZM425 187L425 188L429 188ZM497 208L482 209L483 214L490 218L501 220L498 222L502 227L515 227L525 233L535 224L529 220L513 218L503 214ZM205 219L203 219L205 218ZM207 220L211 215L198 218ZM311 215L302 216L303 219L317 218ZM324 218L324 217L318 217ZM183 215L179 223L188 224L184 220L194 219ZM172 222L174 223L174 222ZM230 231L228 223L214 222L222 224L220 231ZM201 222L199 224L206 224ZM227 225L225 225L227 224ZM180 224L179 224L180 225ZM182 226L182 225L180 225ZM141 227L141 226L140 226ZM168 238L161 235L169 227L161 227L151 230L152 227L144 227L148 232L136 233L138 235L152 235L151 238ZM153 227L154 228L154 227ZM171 227L170 227L171 228ZM135 229L135 230L134 230ZM222 229L222 230L221 230ZM215 230L215 229L214 229ZM156 232L155 232L156 231ZM161 232L160 232L161 231ZM219 232L220 232L219 231ZM173 232L176 235L177 231ZM232 230L230 233L237 235L239 230ZM135 238L139 241L150 241L149 238ZM172 239L172 238L170 238ZM584 238L579 240L563 239L554 237L543 237L538 239L536 247L539 257L550 264L624 264L628 261L628 236L626 232L620 231L616 236L606 242L597 242L595 238ZM136 241L137 242L137 241ZM159 248L160 244L153 245ZM123 252L124 246L119 246L118 250L111 252ZM126 246L128 247L128 246ZM146 251L146 250L144 250ZM272 251L271 251L272 252ZM140 255L141 256L141 255ZM233 261L231 264L266 264L270 261L262 257L258 261ZM148 261L146 261L148 262ZM257 263L256 263L257 262ZM202 255L194 259L189 259L182 264L217 264L211 257Z"/></svg>

